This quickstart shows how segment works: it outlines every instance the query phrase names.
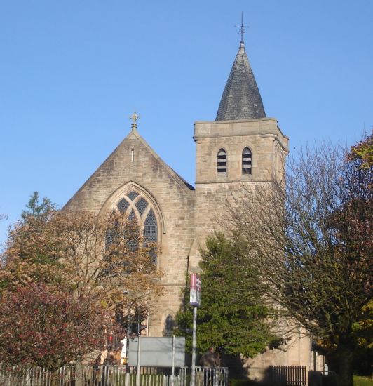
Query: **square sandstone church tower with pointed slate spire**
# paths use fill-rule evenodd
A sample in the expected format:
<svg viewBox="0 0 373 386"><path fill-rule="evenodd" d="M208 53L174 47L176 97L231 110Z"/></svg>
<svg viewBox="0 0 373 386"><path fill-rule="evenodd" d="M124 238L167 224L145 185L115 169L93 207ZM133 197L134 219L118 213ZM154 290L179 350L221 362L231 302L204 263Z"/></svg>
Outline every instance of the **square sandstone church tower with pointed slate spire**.
<svg viewBox="0 0 373 386"><path fill-rule="evenodd" d="M215 121L194 124L196 142L196 238L219 229L226 199L240 189L270 182L284 168L288 138L277 120L266 117L243 39ZM190 259L190 269L198 258Z"/></svg>

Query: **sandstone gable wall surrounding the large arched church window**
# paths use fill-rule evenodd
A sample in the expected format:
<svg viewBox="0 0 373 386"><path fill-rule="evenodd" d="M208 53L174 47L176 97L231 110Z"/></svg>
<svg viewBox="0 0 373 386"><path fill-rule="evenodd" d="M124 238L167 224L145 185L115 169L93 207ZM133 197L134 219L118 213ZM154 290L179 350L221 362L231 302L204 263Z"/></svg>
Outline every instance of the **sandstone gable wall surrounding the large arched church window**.
<svg viewBox="0 0 373 386"><path fill-rule="evenodd" d="M158 265L165 272L165 295L156 302L149 335L161 336L165 318L175 314L181 303L187 256L194 238L194 189L132 131L65 207L102 213L116 206L131 189L150 202L158 222Z"/></svg>

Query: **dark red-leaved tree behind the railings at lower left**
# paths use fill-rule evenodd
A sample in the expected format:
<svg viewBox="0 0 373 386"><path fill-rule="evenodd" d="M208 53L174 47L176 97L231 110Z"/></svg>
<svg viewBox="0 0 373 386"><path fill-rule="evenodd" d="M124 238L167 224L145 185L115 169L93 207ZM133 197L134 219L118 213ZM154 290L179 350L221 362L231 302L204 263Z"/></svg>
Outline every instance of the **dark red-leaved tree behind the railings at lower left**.
<svg viewBox="0 0 373 386"><path fill-rule="evenodd" d="M29 284L0 295L0 361L56 371L106 343L110 314L88 297Z"/></svg>

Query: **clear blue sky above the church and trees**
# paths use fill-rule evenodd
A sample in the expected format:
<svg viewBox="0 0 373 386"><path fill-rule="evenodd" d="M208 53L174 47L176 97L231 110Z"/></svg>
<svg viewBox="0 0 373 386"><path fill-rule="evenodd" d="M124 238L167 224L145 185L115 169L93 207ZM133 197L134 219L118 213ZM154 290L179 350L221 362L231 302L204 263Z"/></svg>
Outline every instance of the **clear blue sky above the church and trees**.
<svg viewBox="0 0 373 386"><path fill-rule="evenodd" d="M290 149L373 126L372 0L0 0L0 242L34 191L63 206L130 131L194 184L245 46Z"/></svg>

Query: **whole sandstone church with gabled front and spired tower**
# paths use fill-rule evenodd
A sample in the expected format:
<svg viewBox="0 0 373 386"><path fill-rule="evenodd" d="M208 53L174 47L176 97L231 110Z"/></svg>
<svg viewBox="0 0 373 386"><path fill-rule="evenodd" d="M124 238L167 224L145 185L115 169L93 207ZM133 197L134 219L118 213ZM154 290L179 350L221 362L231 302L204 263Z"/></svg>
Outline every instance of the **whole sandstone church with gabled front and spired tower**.
<svg viewBox="0 0 373 386"><path fill-rule="evenodd" d="M137 218L144 237L161 245L156 263L165 272L165 294L149 318L146 333L163 336L172 329L186 272L198 270L200 248L212 231L216 216L224 213L226 196L242 187L271 181L273 173L283 170L289 139L276 119L266 117L243 41L215 121L194 124L194 186L151 149L138 133L136 119L134 114L130 133L67 207L94 213L117 208L130 218ZM271 364L309 368L309 338L294 339L284 350L259 354L250 367L254 371Z"/></svg>

